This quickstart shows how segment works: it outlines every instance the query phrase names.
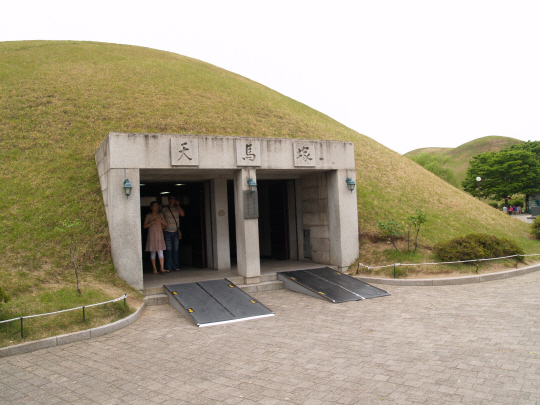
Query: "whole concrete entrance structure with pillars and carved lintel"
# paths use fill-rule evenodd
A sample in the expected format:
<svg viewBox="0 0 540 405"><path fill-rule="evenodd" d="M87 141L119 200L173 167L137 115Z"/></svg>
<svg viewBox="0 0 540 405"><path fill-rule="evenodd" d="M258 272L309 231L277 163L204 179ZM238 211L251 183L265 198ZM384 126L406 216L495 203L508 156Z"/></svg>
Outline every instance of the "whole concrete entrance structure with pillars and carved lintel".
<svg viewBox="0 0 540 405"><path fill-rule="evenodd" d="M234 241L229 240L229 227L235 227L238 275L246 283L260 277L263 239L268 245L285 244L280 247L283 258L290 260L344 268L358 257L356 191L349 191L346 181L356 182L350 142L110 133L95 158L114 266L139 290L144 287L141 183L203 183L204 262L218 271L230 269ZM126 179L133 185L129 197ZM262 218L259 224L257 191L250 191L248 180L281 182L280 218L285 224L281 234L271 231ZM227 215L231 201L227 181L234 182L235 223ZM264 199L270 211L275 195L269 189L270 203Z"/></svg>

